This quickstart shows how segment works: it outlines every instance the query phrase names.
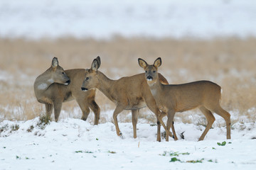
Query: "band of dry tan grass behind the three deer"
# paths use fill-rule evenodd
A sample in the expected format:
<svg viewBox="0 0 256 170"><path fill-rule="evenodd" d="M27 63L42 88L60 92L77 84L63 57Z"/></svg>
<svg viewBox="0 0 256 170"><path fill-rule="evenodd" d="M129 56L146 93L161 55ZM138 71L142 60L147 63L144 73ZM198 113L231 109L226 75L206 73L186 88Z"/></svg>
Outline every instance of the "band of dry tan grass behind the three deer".
<svg viewBox="0 0 256 170"><path fill-rule="evenodd" d="M146 38L114 38L105 40L0 40L0 121L27 120L44 112L44 106L36 101L33 81L50 67L52 57L58 57L64 69L89 68L92 60L100 55L100 70L117 79L143 72L137 63L142 57L149 63L162 58L159 72L171 84L207 79L223 88L222 106L231 113L233 121L242 117L255 122L256 101L256 39L237 38L215 40L153 40ZM4 78L1 78L4 77ZM97 103L102 111L114 109L114 104L101 92ZM63 110L71 113L78 105L65 103ZM146 113L145 113L146 112ZM196 111L197 112L197 111ZM143 109L141 116L149 122L154 115ZM122 120L129 121L128 112ZM177 118L191 122L188 114ZM92 116L91 114L90 116ZM104 122L104 118L101 122Z"/></svg>

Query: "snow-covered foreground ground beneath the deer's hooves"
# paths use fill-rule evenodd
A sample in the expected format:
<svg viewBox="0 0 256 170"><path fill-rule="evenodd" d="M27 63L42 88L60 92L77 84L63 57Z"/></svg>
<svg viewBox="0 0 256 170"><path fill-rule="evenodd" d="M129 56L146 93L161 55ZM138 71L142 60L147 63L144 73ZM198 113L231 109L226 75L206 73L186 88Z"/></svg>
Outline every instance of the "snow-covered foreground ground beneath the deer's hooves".
<svg viewBox="0 0 256 170"><path fill-rule="evenodd" d="M156 142L156 126L119 123L124 138L117 137L112 123L91 125L65 118L58 123L39 125L39 118L0 123L0 169L255 169L256 128L235 123L232 139L225 127L204 129L176 123L185 140ZM164 130L162 130L164 132ZM225 141L225 143L223 143ZM221 146L218 145L223 144Z"/></svg>

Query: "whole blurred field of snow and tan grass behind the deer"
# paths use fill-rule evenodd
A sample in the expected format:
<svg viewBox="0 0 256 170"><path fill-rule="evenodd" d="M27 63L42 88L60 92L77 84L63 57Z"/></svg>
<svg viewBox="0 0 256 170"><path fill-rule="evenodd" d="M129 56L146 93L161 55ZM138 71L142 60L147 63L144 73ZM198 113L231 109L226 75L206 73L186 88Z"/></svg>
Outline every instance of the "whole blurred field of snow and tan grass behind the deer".
<svg viewBox="0 0 256 170"><path fill-rule="evenodd" d="M159 72L170 84L214 81L222 86L221 106L233 123L255 123L255 1L22 2L0 2L0 121L28 120L45 112L33 81L53 57L64 69L73 69L90 68L99 55L100 71L111 79L143 72L139 57L149 63L161 57ZM100 91L96 102L100 123L112 121L114 103ZM81 115L72 101L63 104L60 118ZM90 123L93 117L90 113ZM146 108L139 118L156 121ZM129 111L119 120L131 121ZM175 120L205 121L198 110L177 113Z"/></svg>

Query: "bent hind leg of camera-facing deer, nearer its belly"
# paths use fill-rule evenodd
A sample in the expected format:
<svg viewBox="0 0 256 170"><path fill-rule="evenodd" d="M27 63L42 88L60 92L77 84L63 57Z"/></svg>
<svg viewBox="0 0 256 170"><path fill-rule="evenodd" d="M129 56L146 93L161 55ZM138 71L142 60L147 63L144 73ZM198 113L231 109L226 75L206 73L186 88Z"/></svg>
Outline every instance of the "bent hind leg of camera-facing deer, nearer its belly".
<svg viewBox="0 0 256 170"><path fill-rule="evenodd" d="M201 108L199 108L200 111L203 113L203 115L206 116L206 120L207 120L207 125L206 125L206 129L203 131L201 137L199 137L198 141L203 140L204 137L206 137L206 134L208 133L208 131L210 130L211 126L213 125L215 118L213 116L213 113L211 113L207 108L205 108L204 106L201 106Z"/></svg>

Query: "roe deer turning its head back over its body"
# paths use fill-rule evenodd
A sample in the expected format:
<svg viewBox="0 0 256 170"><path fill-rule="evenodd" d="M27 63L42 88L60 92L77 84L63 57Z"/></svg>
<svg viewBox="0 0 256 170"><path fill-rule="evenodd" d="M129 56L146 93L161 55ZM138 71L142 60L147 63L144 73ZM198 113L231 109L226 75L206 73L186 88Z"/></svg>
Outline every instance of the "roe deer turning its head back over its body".
<svg viewBox="0 0 256 170"><path fill-rule="evenodd" d="M38 102L46 105L46 115L50 115L54 108L55 121L58 122L63 102L75 99L82 110L82 120L86 120L90 113L89 107L95 113L95 125L100 119L100 108L95 102L95 90L82 92L81 77L85 77L85 69L63 70L58 65L58 59L53 58L52 65L46 72L36 78L34 91Z"/></svg>

